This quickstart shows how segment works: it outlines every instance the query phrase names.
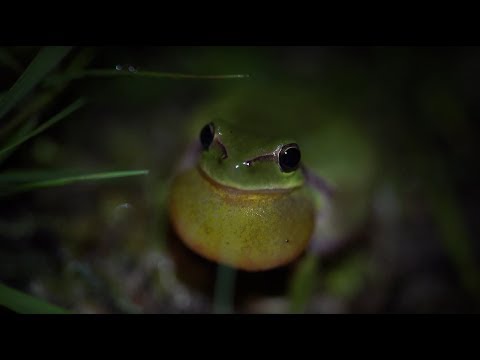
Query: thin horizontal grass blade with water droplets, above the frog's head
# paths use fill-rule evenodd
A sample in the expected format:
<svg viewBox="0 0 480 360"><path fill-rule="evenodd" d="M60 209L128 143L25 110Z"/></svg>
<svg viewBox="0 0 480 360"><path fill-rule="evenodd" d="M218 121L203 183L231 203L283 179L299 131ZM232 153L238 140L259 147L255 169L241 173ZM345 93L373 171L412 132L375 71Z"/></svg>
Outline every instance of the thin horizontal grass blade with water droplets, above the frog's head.
<svg viewBox="0 0 480 360"><path fill-rule="evenodd" d="M226 74L226 75L194 75L155 71L125 71L125 70L111 70L111 69L91 69L78 71L71 74L62 74L58 76L51 76L47 79L47 84L52 85L58 82L70 81L73 79L80 79L84 77L145 77L151 79L198 79L198 80L225 80L225 79L245 79L248 74Z"/></svg>

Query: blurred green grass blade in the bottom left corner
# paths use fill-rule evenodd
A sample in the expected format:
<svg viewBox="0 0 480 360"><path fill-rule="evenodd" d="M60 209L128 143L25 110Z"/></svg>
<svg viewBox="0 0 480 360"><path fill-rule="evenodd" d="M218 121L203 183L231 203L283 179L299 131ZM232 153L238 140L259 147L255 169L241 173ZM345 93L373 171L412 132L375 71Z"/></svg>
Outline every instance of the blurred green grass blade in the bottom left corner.
<svg viewBox="0 0 480 360"><path fill-rule="evenodd" d="M21 314L68 314L56 305L0 283L0 305Z"/></svg>

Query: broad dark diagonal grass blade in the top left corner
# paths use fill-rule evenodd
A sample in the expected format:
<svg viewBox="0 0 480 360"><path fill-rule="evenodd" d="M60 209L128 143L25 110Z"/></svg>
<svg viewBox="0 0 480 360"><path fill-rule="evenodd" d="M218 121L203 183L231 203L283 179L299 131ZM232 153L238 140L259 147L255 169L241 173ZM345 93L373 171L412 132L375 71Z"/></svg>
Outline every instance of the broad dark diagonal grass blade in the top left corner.
<svg viewBox="0 0 480 360"><path fill-rule="evenodd" d="M0 99L0 119L55 68L70 50L70 46L42 48L8 93Z"/></svg>

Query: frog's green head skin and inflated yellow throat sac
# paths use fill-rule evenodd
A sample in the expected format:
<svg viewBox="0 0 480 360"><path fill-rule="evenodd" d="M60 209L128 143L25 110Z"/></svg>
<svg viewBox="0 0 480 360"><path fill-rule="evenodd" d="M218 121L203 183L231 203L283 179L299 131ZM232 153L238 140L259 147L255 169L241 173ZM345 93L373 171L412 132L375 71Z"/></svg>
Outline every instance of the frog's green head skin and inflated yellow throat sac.
<svg viewBox="0 0 480 360"><path fill-rule="evenodd" d="M202 131L207 144L204 136L197 164L174 179L170 192L179 237L203 257L246 271L297 258L313 235L316 208L300 162L281 166L280 154L294 141L258 137L220 120Z"/></svg>

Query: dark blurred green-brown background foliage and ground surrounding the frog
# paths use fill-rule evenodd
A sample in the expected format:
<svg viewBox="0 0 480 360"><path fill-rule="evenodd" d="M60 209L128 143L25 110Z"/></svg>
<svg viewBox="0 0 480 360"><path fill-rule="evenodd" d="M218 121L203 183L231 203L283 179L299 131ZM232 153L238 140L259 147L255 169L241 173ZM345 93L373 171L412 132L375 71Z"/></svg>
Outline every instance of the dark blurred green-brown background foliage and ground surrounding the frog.
<svg viewBox="0 0 480 360"><path fill-rule="evenodd" d="M238 312L479 311L479 48L102 47L74 48L61 62L54 53L12 95L45 50L0 51L2 147L79 97L88 106L5 151L10 174L0 182L18 169L43 181L39 168L52 179L79 175L66 169L150 175L2 198L2 283L74 312L231 311L222 299ZM119 64L137 74L249 77L157 79L115 73ZM304 163L338 190L325 231L346 246L219 279L214 264L182 249L169 228L168 186L215 117L297 139ZM235 299L228 284L215 290L222 279L235 284Z"/></svg>

